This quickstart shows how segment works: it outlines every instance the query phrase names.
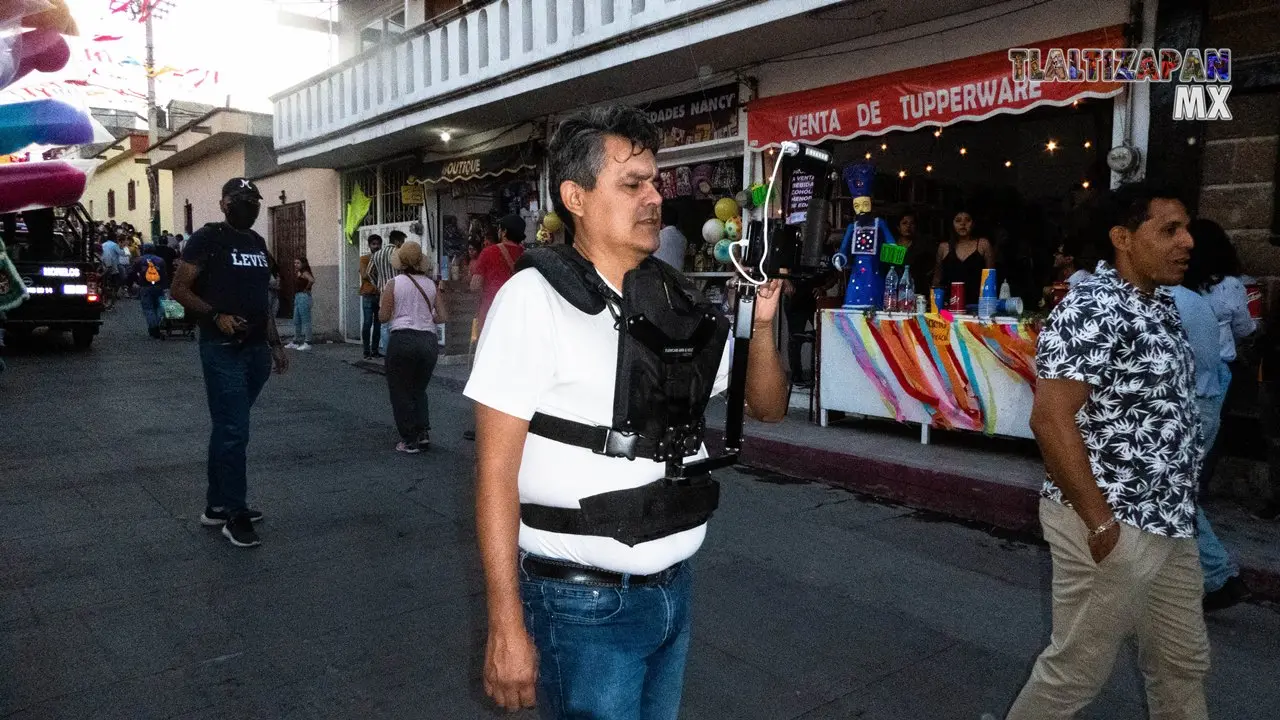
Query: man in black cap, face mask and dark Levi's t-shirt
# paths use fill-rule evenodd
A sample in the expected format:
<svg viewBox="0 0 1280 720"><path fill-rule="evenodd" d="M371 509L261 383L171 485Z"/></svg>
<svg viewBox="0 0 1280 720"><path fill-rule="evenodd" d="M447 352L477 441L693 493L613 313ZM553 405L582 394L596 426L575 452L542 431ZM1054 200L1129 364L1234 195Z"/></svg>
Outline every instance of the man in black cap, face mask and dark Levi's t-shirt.
<svg viewBox="0 0 1280 720"><path fill-rule="evenodd" d="M200 521L221 527L237 547L261 542L253 523L262 514L244 500L250 409L273 360L276 373L289 365L268 310L266 241L252 229L261 201L247 178L227 181L220 202L227 220L191 236L173 281L174 300L200 318L200 360L212 419L207 505Z"/></svg>

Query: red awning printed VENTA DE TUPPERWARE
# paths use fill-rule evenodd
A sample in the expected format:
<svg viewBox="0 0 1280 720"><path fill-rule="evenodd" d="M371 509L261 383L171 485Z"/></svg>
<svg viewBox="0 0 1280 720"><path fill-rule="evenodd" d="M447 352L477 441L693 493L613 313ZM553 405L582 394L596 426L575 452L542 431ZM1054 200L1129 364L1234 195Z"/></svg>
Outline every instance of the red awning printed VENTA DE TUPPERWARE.
<svg viewBox="0 0 1280 720"><path fill-rule="evenodd" d="M1033 46L1123 47L1121 26L1046 40ZM786 140L820 142L982 120L1025 113L1041 105L1068 105L1082 97L1111 97L1119 82L1015 82L1007 50L820 87L762 97L748 104L746 133L753 147Z"/></svg>

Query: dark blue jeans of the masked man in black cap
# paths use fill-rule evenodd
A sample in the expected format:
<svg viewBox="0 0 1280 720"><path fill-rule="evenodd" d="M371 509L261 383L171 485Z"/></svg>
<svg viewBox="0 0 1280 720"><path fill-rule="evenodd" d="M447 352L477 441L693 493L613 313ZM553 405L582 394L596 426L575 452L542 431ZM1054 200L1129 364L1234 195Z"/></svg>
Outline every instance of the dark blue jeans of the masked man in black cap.
<svg viewBox="0 0 1280 720"><path fill-rule="evenodd" d="M271 374L271 350L266 343L201 342L200 361L212 420L207 502L234 512L246 507L248 411Z"/></svg>

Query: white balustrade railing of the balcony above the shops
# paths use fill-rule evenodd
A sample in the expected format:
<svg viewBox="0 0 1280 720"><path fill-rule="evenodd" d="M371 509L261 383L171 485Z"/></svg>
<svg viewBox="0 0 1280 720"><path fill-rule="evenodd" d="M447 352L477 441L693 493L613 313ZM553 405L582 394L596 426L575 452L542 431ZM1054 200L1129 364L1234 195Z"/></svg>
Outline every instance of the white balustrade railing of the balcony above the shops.
<svg viewBox="0 0 1280 720"><path fill-rule="evenodd" d="M499 0L442 27L337 65L273 97L275 147L287 151L387 113L461 95L480 83L742 0Z"/></svg>

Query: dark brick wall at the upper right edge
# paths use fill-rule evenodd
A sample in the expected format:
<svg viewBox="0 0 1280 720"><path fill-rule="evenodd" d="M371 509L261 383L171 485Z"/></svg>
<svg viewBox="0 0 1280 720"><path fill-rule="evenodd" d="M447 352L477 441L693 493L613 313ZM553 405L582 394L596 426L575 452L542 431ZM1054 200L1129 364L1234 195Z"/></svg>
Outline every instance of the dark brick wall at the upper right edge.
<svg viewBox="0 0 1280 720"><path fill-rule="evenodd" d="M1230 47L1234 67L1280 51L1280 1L1220 0L1208 4L1206 47ZM1236 73L1234 79L1239 81ZM1235 241L1245 272L1280 275L1272 245L1280 88L1233 94L1230 122L1207 123L1201 214L1221 223Z"/></svg>

